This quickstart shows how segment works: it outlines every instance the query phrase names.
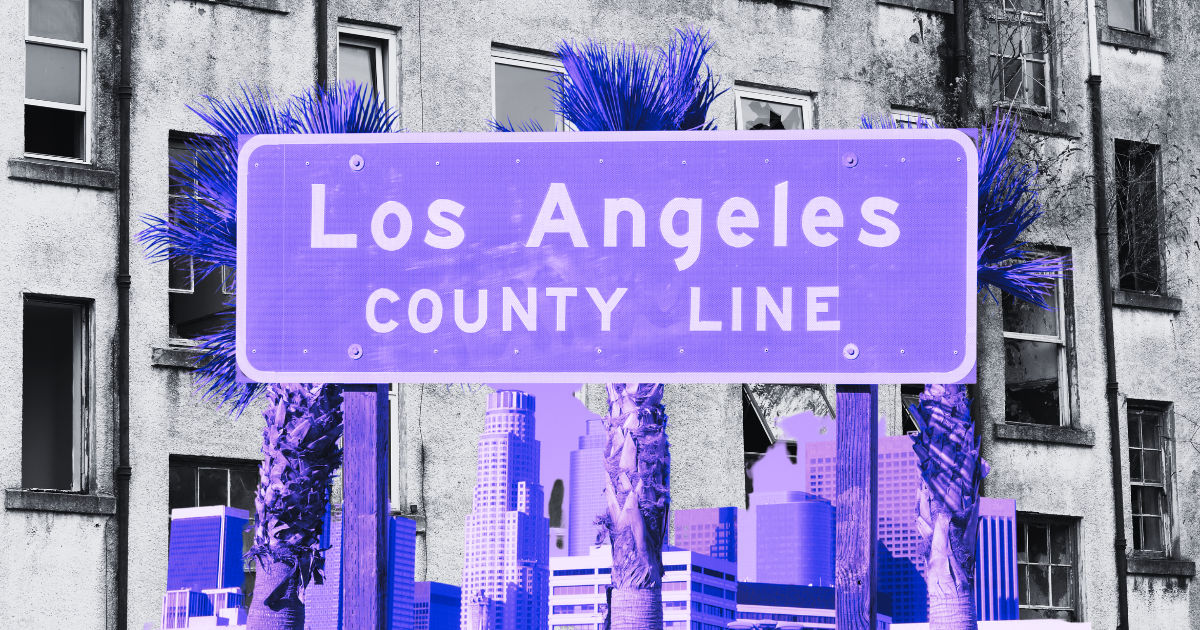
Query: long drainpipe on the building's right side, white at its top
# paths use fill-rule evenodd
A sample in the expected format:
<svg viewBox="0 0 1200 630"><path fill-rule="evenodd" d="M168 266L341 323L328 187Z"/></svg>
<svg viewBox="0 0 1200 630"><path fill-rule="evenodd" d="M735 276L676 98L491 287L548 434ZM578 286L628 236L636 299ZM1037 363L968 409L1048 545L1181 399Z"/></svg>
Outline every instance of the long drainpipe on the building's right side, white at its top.
<svg viewBox="0 0 1200 630"><path fill-rule="evenodd" d="M1109 204L1104 188L1104 116L1100 109L1100 55L1096 32L1096 4L1087 2L1088 66L1087 94L1092 104L1092 184L1096 204L1096 257L1099 262L1100 300L1104 310L1104 367L1108 374L1109 443L1112 456L1112 540L1117 563L1117 630L1129 628L1129 593L1126 578L1124 479L1121 474L1121 412L1117 392L1117 356L1112 331L1112 276L1109 269Z"/></svg>

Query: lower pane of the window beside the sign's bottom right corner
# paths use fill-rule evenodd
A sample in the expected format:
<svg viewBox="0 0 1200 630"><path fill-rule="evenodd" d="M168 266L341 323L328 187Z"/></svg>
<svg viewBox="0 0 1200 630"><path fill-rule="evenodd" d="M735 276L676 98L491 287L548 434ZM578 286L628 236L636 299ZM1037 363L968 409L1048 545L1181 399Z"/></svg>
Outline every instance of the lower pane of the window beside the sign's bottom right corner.
<svg viewBox="0 0 1200 630"><path fill-rule="evenodd" d="M1004 419L1008 422L1061 424L1058 344L1004 340Z"/></svg>

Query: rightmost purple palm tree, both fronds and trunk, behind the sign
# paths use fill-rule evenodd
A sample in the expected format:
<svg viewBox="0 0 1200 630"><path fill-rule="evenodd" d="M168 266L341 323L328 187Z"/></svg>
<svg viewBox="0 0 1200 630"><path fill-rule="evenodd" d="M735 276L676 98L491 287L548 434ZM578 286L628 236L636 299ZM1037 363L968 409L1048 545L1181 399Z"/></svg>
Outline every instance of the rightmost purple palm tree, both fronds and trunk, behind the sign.
<svg viewBox="0 0 1200 630"><path fill-rule="evenodd" d="M922 127L932 128L930 121ZM890 116L863 116L863 127L895 127ZM980 130L978 283L1049 310L1046 296L1067 269L1067 258L1031 254L1021 234L1042 215L1037 169L1012 154L1020 119L996 112ZM926 384L910 407L920 430L913 451L920 460L917 500L918 553L925 559L930 630L974 630L974 563L979 486L988 462L979 457L964 385Z"/></svg>

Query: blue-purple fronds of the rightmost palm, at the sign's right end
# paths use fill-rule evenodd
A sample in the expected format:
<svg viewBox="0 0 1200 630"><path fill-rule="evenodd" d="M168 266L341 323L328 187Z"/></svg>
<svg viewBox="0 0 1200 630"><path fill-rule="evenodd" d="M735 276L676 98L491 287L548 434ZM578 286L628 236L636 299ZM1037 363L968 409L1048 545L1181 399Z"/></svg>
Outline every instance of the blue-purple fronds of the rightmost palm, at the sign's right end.
<svg viewBox="0 0 1200 630"><path fill-rule="evenodd" d="M864 114L860 127L898 128L889 114ZM1070 257L1030 252L1021 240L1025 230L1042 216L1037 190L1037 167L1012 155L1021 127L1019 116L996 110L990 125L979 130L979 234L978 290L997 300L994 288L1014 298L1050 310L1046 302L1055 281L1066 277ZM937 128L925 118L918 128Z"/></svg>

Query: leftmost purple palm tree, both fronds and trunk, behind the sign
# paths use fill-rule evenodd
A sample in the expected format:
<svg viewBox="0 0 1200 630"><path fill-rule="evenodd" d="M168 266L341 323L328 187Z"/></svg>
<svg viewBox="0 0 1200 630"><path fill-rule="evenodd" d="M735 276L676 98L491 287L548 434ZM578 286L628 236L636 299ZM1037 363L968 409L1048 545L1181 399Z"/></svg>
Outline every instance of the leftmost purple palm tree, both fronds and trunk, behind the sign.
<svg viewBox="0 0 1200 630"><path fill-rule="evenodd" d="M204 96L190 109L214 134L188 140L194 158L172 163L172 184L181 196L170 216L144 217L146 228L138 240L151 260L191 257L200 278L236 268L239 136L382 133L395 131L397 119L380 96L353 82L332 90L313 88L286 101L242 86L227 98ZM239 383L232 296L227 306L217 330L198 340L203 354L196 361L196 388L234 415L264 392L269 401L254 545L247 553L258 569L259 596L252 600L248 628L302 630L300 593L311 580L323 581L323 515L342 463L342 390L329 384Z"/></svg>

